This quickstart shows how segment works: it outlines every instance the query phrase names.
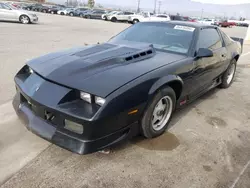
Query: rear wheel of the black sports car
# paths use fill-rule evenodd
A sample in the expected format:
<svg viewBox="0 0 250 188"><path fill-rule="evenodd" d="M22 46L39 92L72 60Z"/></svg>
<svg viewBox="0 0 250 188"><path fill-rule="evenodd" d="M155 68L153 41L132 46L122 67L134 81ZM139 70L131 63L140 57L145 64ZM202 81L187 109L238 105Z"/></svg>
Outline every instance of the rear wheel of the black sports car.
<svg viewBox="0 0 250 188"><path fill-rule="evenodd" d="M232 67L233 66L233 67ZM220 84L220 88L228 88L231 86L234 80L235 72L236 72L237 61L233 59L228 66L227 70L222 75L222 82Z"/></svg>

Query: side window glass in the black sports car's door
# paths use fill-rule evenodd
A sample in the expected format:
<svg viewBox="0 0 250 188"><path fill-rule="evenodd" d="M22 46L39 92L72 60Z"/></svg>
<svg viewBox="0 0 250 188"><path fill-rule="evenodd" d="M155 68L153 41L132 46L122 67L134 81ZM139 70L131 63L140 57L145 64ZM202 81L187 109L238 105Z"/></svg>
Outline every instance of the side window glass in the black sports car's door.
<svg viewBox="0 0 250 188"><path fill-rule="evenodd" d="M209 48L216 50L222 48L222 41L216 29L202 29L197 43L197 49Z"/></svg>

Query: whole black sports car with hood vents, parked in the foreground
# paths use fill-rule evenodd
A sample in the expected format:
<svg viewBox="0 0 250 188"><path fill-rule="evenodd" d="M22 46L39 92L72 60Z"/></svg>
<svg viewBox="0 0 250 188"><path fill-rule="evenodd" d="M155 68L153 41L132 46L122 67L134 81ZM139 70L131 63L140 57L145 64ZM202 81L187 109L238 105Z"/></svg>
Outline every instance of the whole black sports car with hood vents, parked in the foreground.
<svg viewBox="0 0 250 188"><path fill-rule="evenodd" d="M141 22L107 43L29 61L13 106L33 133L79 154L157 137L177 107L232 84L242 42L216 26Z"/></svg>

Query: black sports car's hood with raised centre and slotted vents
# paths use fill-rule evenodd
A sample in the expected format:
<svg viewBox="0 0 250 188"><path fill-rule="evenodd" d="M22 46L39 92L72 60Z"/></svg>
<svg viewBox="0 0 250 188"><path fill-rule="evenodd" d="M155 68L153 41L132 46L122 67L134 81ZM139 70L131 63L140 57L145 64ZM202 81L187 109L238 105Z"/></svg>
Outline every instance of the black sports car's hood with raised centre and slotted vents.
<svg viewBox="0 0 250 188"><path fill-rule="evenodd" d="M152 53L147 54L150 50ZM156 52L149 44L124 42L51 53L27 64L47 80L106 97L124 84L185 57Z"/></svg>

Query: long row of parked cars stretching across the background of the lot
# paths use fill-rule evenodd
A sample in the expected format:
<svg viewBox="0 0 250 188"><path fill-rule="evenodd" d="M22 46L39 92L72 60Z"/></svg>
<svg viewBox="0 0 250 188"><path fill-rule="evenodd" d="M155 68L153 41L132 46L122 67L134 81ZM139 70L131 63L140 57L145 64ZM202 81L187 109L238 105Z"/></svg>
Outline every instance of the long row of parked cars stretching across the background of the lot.
<svg viewBox="0 0 250 188"><path fill-rule="evenodd" d="M219 27L233 27L233 26L242 26L242 27L248 27L248 23L243 21L234 21L234 20L218 20L218 19L211 19L211 18L191 18L187 16L180 16L180 15L168 15L168 14L153 14L152 12L141 12L141 13L135 13L131 11L117 11L117 10L105 10L105 9L90 9L89 7L66 7L64 5L43 5L39 3L35 4L27 4L27 3L13 3L13 2L2 2L4 3L4 6L0 6L0 19L1 14L5 11L11 11L12 9L16 9L22 11L28 10L28 11L37 11L42 13L50 13L50 14L59 14L59 15L68 15L68 16L76 16L86 19L102 19L105 21L111 21L111 22L128 22L131 24L136 24L138 22L145 22L145 21L187 21L187 22L199 22L206 25L217 25ZM6 8L9 7L9 8ZM9 10L8 10L9 9ZM11 11L12 13L14 11ZM28 15L34 15L32 13L25 13L27 17L25 17L26 20L28 20L28 23L35 22L35 20L38 20L36 17L33 19L33 17ZM10 16L10 15L9 15ZM3 17L3 16L2 16ZM12 20L19 20L21 21L20 16L10 16ZM2 18L5 20L6 18ZM23 20L23 19L22 19ZM25 21L26 22L26 21Z"/></svg>

